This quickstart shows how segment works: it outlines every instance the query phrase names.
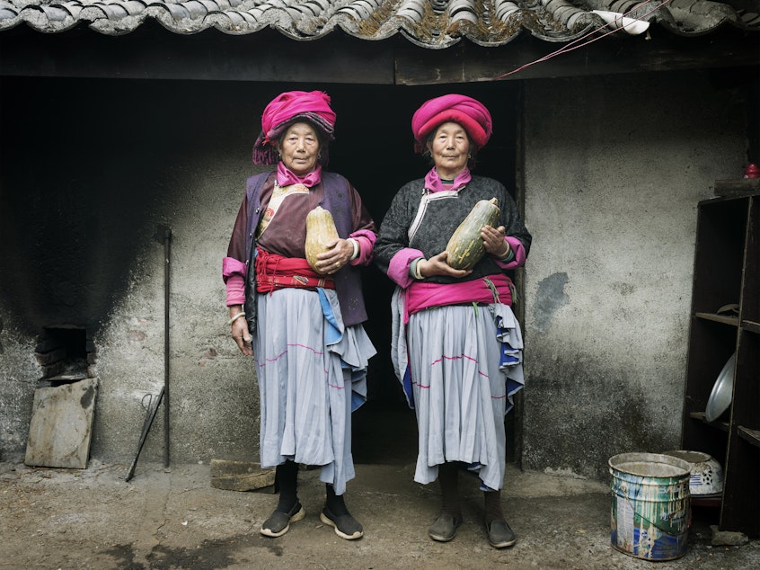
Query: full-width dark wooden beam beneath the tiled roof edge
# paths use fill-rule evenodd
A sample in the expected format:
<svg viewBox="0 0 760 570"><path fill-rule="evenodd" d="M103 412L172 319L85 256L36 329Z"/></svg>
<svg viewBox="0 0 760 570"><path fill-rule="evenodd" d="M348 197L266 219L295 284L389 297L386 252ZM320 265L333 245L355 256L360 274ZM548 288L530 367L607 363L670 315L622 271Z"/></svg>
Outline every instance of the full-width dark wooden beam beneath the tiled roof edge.
<svg viewBox="0 0 760 570"><path fill-rule="evenodd" d="M83 26L44 34L21 25L0 32L0 76L440 85L491 81L568 47L527 34L495 48L462 40L452 48L425 49L399 34L368 41L333 31L320 40L299 41L274 30L182 35L154 21L124 36ZM504 78L758 65L760 33L727 28L684 38L655 26L641 36L606 37Z"/></svg>

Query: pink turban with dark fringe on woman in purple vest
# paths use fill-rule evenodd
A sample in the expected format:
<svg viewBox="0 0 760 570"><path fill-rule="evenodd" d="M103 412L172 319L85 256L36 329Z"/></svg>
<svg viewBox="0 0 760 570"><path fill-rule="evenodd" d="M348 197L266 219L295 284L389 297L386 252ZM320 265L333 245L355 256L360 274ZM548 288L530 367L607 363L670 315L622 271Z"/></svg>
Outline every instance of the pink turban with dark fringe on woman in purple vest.
<svg viewBox="0 0 760 570"><path fill-rule="evenodd" d="M292 123L308 120L329 140L335 130L335 111L330 108L330 96L321 91L288 91L279 94L261 115L261 134L253 145L254 165L274 165L278 162L277 139ZM327 149L321 149L321 163L327 163Z"/></svg>

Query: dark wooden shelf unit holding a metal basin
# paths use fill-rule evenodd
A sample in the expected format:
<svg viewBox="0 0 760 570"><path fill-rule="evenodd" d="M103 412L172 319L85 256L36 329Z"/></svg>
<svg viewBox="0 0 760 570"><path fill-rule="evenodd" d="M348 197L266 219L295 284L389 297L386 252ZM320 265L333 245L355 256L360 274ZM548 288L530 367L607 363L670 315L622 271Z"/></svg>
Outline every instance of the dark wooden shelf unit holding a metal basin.
<svg viewBox="0 0 760 570"><path fill-rule="evenodd" d="M720 530L760 537L760 194L703 200L697 209L683 440L723 466ZM738 304L738 315L719 314ZM705 408L736 353L729 409Z"/></svg>

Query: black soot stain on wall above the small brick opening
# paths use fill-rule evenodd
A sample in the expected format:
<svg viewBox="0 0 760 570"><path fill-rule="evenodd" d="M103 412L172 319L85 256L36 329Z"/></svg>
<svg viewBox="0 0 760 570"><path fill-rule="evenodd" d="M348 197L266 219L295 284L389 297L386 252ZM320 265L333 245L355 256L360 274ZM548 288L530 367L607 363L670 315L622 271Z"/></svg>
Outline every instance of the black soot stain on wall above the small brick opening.
<svg viewBox="0 0 760 570"><path fill-rule="evenodd" d="M199 120L193 101L175 96L180 82L3 85L4 301L29 333L49 325L96 332L128 290L130 271L141 269L141 252L155 244L156 224L172 215L181 192L172 167L190 161L199 140L214 144L212 119ZM134 112L125 112L130 105Z"/></svg>

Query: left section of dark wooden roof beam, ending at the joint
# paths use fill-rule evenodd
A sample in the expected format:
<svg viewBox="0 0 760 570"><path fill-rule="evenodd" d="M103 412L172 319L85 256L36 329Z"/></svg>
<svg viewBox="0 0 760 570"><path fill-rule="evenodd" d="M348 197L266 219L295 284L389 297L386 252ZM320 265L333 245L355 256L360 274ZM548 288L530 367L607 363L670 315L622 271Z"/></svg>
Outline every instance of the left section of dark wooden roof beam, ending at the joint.
<svg viewBox="0 0 760 570"><path fill-rule="evenodd" d="M154 21L124 36L86 28L44 34L0 32L0 76L393 84L391 43L341 32L292 40L278 31L181 35Z"/></svg>

